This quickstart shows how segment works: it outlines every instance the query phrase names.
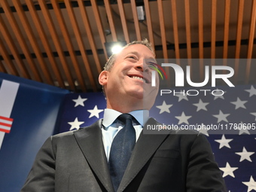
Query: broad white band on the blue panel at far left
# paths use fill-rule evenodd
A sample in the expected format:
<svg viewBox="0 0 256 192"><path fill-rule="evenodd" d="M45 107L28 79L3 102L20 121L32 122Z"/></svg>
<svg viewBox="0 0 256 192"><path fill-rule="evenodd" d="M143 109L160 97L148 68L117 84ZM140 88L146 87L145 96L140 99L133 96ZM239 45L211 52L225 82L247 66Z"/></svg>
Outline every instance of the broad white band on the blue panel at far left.
<svg viewBox="0 0 256 192"><path fill-rule="evenodd" d="M13 110L14 102L17 96L17 92L20 84L12 81L2 81L0 88L0 116L10 117ZM4 140L5 133L0 132L0 149Z"/></svg>

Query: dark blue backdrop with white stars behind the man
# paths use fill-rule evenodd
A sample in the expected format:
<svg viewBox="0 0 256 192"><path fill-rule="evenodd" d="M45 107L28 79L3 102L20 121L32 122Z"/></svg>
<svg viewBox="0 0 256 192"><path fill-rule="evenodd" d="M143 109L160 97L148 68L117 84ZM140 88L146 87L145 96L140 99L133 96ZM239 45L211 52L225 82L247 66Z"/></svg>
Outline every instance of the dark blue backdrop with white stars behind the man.
<svg viewBox="0 0 256 192"><path fill-rule="evenodd" d="M178 126L203 123L232 128L232 134L211 129L199 131L206 135L212 145L228 191L256 191L256 86L209 88L217 89L223 90L224 95L199 92L197 96L187 96L188 89L184 90L185 94L183 90L176 89L179 94L174 95L172 90L172 93L159 95L150 116L161 123ZM217 92L216 95L221 95ZM59 133L94 123L103 117L105 105L102 93L66 95L65 105L61 109Z"/></svg>

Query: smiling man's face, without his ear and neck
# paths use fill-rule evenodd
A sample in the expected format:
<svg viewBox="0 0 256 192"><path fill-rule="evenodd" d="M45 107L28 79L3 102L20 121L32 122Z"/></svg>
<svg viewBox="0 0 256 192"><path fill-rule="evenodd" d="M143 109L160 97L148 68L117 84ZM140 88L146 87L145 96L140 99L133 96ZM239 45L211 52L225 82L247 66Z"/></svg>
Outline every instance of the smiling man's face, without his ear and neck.
<svg viewBox="0 0 256 192"><path fill-rule="evenodd" d="M123 102L139 101L143 99L145 109L154 105L157 96L157 86L151 86L152 69L148 67L144 59L155 62L154 53L142 44L133 44L124 48L117 54L114 66L108 72L105 82L105 93L108 99L122 99Z"/></svg>

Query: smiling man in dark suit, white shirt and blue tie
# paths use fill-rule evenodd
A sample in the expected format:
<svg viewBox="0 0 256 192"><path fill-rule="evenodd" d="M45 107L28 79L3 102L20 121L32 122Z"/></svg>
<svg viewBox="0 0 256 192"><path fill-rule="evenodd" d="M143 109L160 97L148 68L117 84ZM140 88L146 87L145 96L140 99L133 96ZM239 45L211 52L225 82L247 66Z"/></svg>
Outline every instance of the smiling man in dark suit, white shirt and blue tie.
<svg viewBox="0 0 256 192"><path fill-rule="evenodd" d="M143 134L158 92L145 59L151 44L133 41L108 59L99 75L107 108L84 129L51 136L21 191L226 191L205 136ZM145 105L146 104L146 105Z"/></svg>

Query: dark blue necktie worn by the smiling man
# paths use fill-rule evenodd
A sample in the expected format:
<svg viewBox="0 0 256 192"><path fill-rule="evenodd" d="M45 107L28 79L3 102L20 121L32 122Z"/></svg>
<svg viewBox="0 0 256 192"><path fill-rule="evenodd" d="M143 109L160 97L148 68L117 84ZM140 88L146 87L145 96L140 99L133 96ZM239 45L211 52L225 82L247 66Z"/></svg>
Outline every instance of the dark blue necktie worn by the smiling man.
<svg viewBox="0 0 256 192"><path fill-rule="evenodd" d="M125 126L114 137L109 154L108 168L114 191L117 191L119 187L136 142L136 133L132 121L133 116L121 114L117 119L125 123Z"/></svg>

